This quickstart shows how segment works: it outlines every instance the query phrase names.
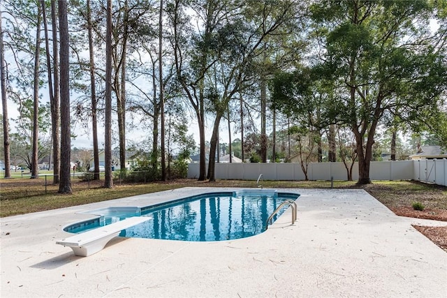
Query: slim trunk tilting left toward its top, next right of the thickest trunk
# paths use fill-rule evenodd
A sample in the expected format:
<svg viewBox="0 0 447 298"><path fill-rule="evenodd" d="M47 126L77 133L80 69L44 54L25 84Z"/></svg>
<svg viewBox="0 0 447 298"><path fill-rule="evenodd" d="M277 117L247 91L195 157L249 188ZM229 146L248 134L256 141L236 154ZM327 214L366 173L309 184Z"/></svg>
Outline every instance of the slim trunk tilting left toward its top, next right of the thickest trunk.
<svg viewBox="0 0 447 298"><path fill-rule="evenodd" d="M98 148L98 117L96 103L95 62L93 50L93 30L91 24L90 0L87 0L87 23L89 32L89 57L90 57L90 93L91 93L91 133L93 138L94 179L99 180L99 148Z"/></svg>

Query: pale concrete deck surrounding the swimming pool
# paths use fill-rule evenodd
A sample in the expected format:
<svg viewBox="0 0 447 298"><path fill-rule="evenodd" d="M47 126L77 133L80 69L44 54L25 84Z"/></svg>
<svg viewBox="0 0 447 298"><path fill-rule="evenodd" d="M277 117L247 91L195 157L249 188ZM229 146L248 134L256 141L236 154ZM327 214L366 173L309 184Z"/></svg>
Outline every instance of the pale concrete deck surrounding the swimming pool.
<svg viewBox="0 0 447 298"><path fill-rule="evenodd" d="M0 218L1 297L447 297L447 253L362 190L300 193L266 232L232 241L115 238L89 257L55 244L78 214L240 188L180 188ZM68 198L69 200L69 198Z"/></svg>

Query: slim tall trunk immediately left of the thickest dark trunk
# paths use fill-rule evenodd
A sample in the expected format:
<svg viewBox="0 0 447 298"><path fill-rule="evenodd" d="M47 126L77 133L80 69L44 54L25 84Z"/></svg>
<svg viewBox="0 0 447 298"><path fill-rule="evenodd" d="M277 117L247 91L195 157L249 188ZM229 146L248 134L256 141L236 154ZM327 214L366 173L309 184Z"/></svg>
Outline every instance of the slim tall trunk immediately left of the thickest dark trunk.
<svg viewBox="0 0 447 298"><path fill-rule="evenodd" d="M51 134L53 142L53 184L59 184L61 172L61 111L60 111L60 87L59 87L59 55L57 45L57 17L56 1L51 1L51 21L53 36L53 77L54 77L54 100L51 105ZM51 165L50 165L51 167Z"/></svg>

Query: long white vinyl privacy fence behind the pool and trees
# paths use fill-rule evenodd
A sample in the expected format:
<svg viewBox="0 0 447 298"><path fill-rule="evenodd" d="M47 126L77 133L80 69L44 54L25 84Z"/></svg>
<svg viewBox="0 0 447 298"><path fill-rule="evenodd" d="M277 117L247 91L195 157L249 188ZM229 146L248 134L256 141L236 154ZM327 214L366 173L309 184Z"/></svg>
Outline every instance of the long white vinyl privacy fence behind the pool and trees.
<svg viewBox="0 0 447 298"><path fill-rule="evenodd" d="M304 180L299 163L216 163L216 179L256 180L263 174L265 180ZM190 163L188 178L197 178L199 164ZM343 163L310 163L309 180L347 180ZM447 159L420 161L372 161L369 168L372 180L409 180L447 186ZM353 167L353 180L358 179L358 163Z"/></svg>

